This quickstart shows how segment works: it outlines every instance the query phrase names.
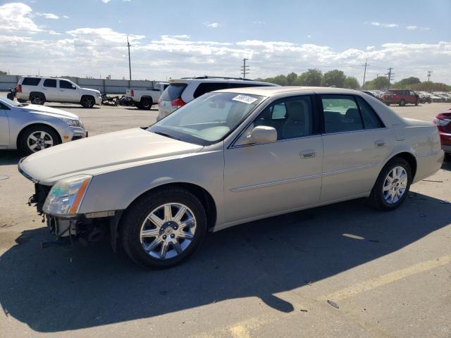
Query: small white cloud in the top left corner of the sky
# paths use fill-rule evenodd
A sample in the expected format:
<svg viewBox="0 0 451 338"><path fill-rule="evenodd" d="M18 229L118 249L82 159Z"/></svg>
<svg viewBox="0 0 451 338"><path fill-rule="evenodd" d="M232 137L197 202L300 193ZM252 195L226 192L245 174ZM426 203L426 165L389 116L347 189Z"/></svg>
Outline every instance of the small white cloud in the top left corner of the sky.
<svg viewBox="0 0 451 338"><path fill-rule="evenodd" d="M30 6L20 3L11 3L0 6L0 30L4 33L40 32L41 29L33 22Z"/></svg>

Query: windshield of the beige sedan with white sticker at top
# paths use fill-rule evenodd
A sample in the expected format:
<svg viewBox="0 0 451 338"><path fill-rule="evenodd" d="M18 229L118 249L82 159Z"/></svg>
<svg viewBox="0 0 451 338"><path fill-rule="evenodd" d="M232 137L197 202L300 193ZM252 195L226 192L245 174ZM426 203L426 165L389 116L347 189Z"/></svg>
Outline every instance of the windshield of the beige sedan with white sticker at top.
<svg viewBox="0 0 451 338"><path fill-rule="evenodd" d="M250 94L207 93L147 130L203 146L214 144L233 131L264 99Z"/></svg>

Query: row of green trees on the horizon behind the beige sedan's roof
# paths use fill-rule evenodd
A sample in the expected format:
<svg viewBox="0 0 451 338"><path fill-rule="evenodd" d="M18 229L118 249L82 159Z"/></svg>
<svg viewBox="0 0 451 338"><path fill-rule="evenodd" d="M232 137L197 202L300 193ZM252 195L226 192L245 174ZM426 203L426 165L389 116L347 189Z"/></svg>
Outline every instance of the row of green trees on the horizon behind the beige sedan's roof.
<svg viewBox="0 0 451 338"><path fill-rule="evenodd" d="M407 77L398 82L390 84L388 78L385 76L376 77L373 80L366 81L361 87L359 81L352 76L347 76L341 70L334 69L326 73L321 70L313 68L307 72L297 75L292 72L288 75L277 75L275 77L257 78L256 81L264 81L280 84L281 86L307 86L307 87L338 87L349 89L380 89L385 90L389 88L396 89L412 89L425 92L450 92L451 86L440 82L424 81L418 77Z"/></svg>

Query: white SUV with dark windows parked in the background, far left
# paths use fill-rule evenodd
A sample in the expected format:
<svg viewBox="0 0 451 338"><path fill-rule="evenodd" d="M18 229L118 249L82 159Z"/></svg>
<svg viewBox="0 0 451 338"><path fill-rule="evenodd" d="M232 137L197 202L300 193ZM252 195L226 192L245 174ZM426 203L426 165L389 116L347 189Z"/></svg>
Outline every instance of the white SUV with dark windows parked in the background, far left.
<svg viewBox="0 0 451 338"><path fill-rule="evenodd" d="M101 94L98 90L82 88L70 80L56 77L20 77L16 96L18 101L30 100L32 104L44 104L46 101L65 102L81 104L85 108L101 104Z"/></svg>

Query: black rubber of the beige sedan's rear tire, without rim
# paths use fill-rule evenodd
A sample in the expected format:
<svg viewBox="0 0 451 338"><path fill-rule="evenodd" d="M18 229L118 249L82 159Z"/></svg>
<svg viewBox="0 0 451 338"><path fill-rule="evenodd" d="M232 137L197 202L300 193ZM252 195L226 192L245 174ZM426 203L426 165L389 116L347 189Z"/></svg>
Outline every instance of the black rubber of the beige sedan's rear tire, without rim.
<svg viewBox="0 0 451 338"><path fill-rule="evenodd" d="M390 171L392 171L395 167L402 167L407 173L407 187L405 188L404 193L402 194L402 196L398 201L396 201L395 203L388 203L388 201L385 201L384 198L383 187L385 178L388 176ZM411 183L412 183L412 169L410 168L409 163L406 160L404 160L404 158L400 157L392 158L390 161L388 161L387 164L384 165L384 167L381 170L381 173L379 173L376 183L374 183L373 189L371 190L369 202L374 208L380 211L392 211L398 206L400 206L404 201L404 199L406 199L407 195L409 194Z"/></svg>

